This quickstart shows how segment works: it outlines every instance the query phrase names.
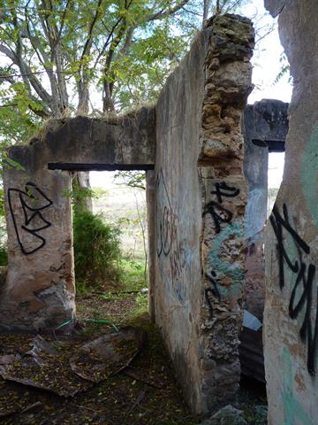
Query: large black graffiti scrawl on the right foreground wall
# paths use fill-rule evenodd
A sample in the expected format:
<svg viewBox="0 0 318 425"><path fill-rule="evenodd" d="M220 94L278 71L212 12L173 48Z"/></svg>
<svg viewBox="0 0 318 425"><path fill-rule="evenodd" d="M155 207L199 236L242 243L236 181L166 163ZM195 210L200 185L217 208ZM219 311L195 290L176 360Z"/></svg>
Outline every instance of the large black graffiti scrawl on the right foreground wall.
<svg viewBox="0 0 318 425"><path fill-rule="evenodd" d="M284 290L285 275L284 267L288 267L295 274L296 281L292 288L289 315L291 319L297 319L303 313L299 336L304 344L307 344L307 370L310 375L315 375L315 357L318 341L318 289L314 283L316 267L306 262L303 257L310 253L309 245L292 228L289 220L287 206L283 205L283 217L276 205L271 214L270 223L276 235L276 251L279 267L279 287ZM292 236L292 241L298 251L298 259L291 259L284 246L284 230ZM314 326L312 323L312 311L314 312Z"/></svg>

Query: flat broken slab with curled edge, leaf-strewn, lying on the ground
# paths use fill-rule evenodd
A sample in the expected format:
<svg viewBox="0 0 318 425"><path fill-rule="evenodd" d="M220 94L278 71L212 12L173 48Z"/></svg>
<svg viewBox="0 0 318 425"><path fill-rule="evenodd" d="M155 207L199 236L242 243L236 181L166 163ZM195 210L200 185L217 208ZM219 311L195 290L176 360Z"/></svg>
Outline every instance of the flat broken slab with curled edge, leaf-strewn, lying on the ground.
<svg viewBox="0 0 318 425"><path fill-rule="evenodd" d="M68 341L53 344L38 335L23 356L0 356L0 375L6 381L73 397L128 367L140 352L144 337L140 328L133 327L80 345ZM63 352L70 344L71 357Z"/></svg>

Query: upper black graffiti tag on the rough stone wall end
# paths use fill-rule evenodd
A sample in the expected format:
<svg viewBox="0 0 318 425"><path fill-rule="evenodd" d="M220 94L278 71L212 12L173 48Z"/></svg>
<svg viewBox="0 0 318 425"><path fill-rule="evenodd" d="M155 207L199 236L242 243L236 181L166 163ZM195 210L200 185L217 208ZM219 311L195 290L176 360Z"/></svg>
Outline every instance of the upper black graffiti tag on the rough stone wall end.
<svg viewBox="0 0 318 425"><path fill-rule="evenodd" d="M210 214L212 217L216 233L221 232L221 223L230 223L233 213L224 208L223 197L237 197L239 189L228 186L225 182L216 183L216 189L211 191L211 195L216 195L217 201L210 201L204 208L203 217Z"/></svg>

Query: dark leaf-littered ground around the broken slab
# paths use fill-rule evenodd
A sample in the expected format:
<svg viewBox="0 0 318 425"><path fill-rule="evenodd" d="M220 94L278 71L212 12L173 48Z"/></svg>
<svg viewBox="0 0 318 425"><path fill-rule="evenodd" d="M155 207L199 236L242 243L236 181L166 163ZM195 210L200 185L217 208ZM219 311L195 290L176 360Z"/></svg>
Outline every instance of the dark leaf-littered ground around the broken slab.
<svg viewBox="0 0 318 425"><path fill-rule="evenodd" d="M107 302L104 304L110 305ZM79 311L87 308L82 315L83 318L95 317L94 308L90 305L85 306L85 298L79 300L78 305L80 305ZM111 303L112 313L120 317L122 322L123 318L126 320L129 316L127 310L132 310L132 296L129 296L127 303L121 301L118 305L120 307L116 312L115 303ZM127 310L123 307L125 305ZM109 319L103 311L100 317ZM46 348L43 348L42 352L40 350L41 353L34 350L34 345L42 346L42 341L39 340L37 341L39 344L34 344L32 335L0 336L0 360L4 355L13 356L9 359L4 358L4 365L1 365L0 361L0 370L1 366L6 367L8 364L11 366L16 363L16 366L21 366L21 361L29 362L30 365L27 364L26 370L17 367L15 376L18 379L32 379L34 383L44 382L49 389L34 388L34 386L4 381L0 378L1 423L8 425L193 425L197 423L180 396L159 330L149 323L148 315L133 317L132 322L127 324L133 325L133 328L142 328L147 334L147 340L138 355L136 355L136 346L139 352L140 345L133 343L132 337L128 337L125 342L115 344L113 352L120 355L121 361L113 364L113 373L110 374L106 372L106 369L98 369L105 360L98 358L98 351L90 350L92 348L90 344L96 338L114 334L111 326L88 323L79 335L59 335L58 341L54 336L42 336L49 345L44 344ZM121 328L124 328L124 325ZM106 336L105 338L107 339ZM54 351L49 352L49 346L53 347L57 354ZM86 349L83 349L85 346ZM33 351L36 354L30 354ZM26 356L27 352L29 354ZM126 355L123 355L124 353ZM84 357L81 357L82 355ZM86 378L89 376L91 381L74 374L70 367L71 358L78 368L82 366L82 370L86 371ZM48 364L49 367L44 366ZM98 366L97 369L95 369L96 366ZM99 382L96 383L96 381ZM78 390L79 387L80 390ZM73 397L65 398L65 389L74 391Z"/></svg>

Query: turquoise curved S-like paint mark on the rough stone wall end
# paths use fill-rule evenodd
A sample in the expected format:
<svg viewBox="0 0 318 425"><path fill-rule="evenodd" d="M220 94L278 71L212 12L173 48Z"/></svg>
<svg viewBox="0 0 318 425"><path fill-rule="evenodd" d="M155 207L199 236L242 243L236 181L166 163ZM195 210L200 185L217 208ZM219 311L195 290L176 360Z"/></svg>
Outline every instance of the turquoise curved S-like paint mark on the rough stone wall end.
<svg viewBox="0 0 318 425"><path fill-rule="evenodd" d="M226 241L229 237L239 238L243 236L243 230L240 223L231 223L224 228L224 230L216 236L212 244L211 251L208 253L208 265L213 270L216 271L217 274L224 274L225 276L231 277L234 283L243 283L244 280L244 272L238 267L238 265L233 265L227 261L223 261L220 256L220 251L224 241ZM234 297L239 296L241 291L240 285L236 284L231 288L224 288L220 285L220 292L223 297L228 297L229 295L233 295Z"/></svg>

